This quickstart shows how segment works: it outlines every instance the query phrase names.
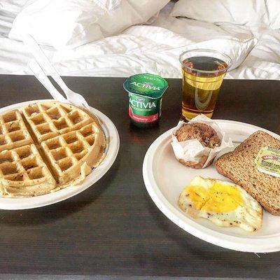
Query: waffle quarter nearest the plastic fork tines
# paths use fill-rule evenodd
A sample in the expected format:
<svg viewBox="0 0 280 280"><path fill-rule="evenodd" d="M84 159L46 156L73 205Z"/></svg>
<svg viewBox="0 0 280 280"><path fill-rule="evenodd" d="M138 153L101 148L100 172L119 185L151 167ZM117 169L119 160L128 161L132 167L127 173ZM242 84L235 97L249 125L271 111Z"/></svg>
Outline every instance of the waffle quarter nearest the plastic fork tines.
<svg viewBox="0 0 280 280"><path fill-rule="evenodd" d="M29 104L22 113L38 143L93 122L92 117L82 109L59 102Z"/></svg>

